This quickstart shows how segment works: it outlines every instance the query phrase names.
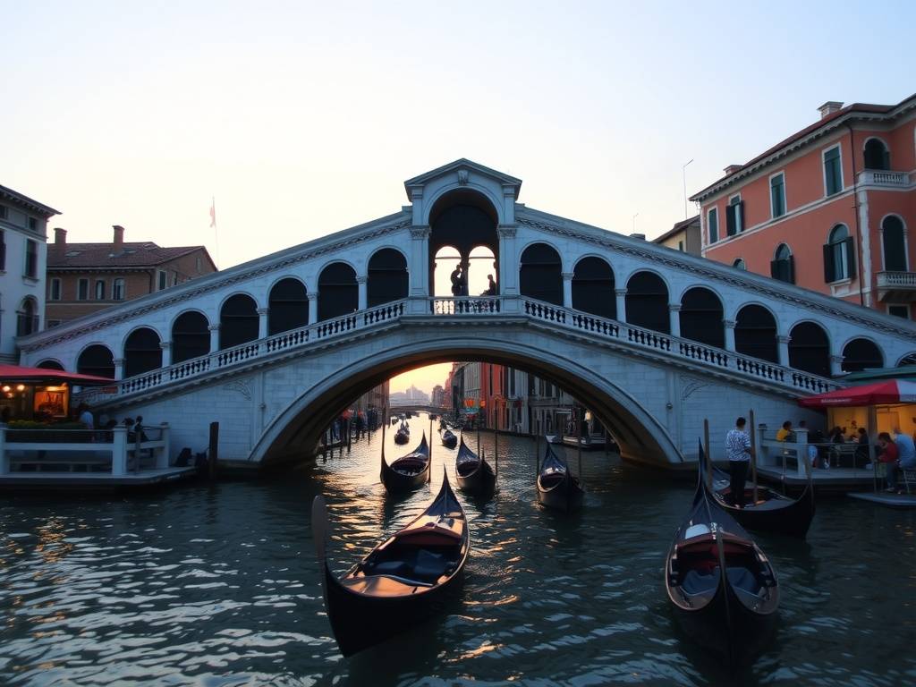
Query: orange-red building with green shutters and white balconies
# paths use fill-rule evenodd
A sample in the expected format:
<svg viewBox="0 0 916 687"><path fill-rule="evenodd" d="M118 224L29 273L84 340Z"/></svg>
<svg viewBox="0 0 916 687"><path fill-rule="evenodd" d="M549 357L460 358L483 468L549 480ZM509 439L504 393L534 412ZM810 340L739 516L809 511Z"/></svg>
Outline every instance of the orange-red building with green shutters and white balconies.
<svg viewBox="0 0 916 687"><path fill-rule="evenodd" d="M912 319L916 95L819 109L692 196L703 256Z"/></svg>

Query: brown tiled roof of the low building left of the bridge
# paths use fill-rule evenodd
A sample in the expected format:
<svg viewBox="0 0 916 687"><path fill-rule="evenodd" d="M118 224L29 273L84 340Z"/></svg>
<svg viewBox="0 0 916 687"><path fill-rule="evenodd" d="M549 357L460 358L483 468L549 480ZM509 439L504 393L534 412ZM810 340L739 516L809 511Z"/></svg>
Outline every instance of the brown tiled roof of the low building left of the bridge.
<svg viewBox="0 0 916 687"><path fill-rule="evenodd" d="M112 253L114 244L49 244L48 268L86 268L86 267L153 267L202 250L213 264L207 249L202 245L185 245L164 248L152 241L125 242L117 255ZM214 266L215 268L215 266Z"/></svg>

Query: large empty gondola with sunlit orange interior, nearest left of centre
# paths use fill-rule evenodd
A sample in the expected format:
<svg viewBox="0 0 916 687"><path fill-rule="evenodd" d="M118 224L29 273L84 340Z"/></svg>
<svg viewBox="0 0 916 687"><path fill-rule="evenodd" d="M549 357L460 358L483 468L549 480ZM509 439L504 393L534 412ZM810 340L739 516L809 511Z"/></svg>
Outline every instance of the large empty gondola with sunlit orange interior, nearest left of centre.
<svg viewBox="0 0 916 687"><path fill-rule="evenodd" d="M324 607L344 656L431 616L461 584L471 548L467 518L448 476L442 479L439 496L419 518L340 578L325 558L330 532L322 496L315 496L312 503L311 528L323 569Z"/></svg>

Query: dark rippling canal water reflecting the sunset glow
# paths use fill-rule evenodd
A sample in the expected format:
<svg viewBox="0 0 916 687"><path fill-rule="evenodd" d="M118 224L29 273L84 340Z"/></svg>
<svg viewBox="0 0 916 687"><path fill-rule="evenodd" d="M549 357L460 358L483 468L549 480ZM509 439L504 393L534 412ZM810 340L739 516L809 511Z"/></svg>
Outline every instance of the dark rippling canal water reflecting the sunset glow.
<svg viewBox="0 0 916 687"><path fill-rule="evenodd" d="M387 433L389 459L430 429L410 424L407 447ZM662 585L692 484L583 453L583 511L558 516L537 505L533 442L506 437L496 496L463 499L462 593L344 660L322 607L312 497L328 500L341 573L426 506L443 463L453 475L454 452L433 442L431 486L392 502L380 445L378 432L267 481L0 497L0 684L916 683L912 511L835 498L819 503L808 540L758 537L780 576L779 629L733 676L680 635ZM492 455L493 436L481 446Z"/></svg>

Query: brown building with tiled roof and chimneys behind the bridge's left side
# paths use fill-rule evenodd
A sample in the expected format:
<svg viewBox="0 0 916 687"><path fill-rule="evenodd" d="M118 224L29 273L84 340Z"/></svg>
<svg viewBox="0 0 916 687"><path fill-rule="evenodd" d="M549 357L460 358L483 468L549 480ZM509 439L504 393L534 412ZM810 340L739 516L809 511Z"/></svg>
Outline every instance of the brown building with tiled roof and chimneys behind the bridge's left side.
<svg viewBox="0 0 916 687"><path fill-rule="evenodd" d="M125 243L124 227L115 224L113 230L108 244L67 243L67 231L54 230L48 246L49 327L216 271L202 245Z"/></svg>

